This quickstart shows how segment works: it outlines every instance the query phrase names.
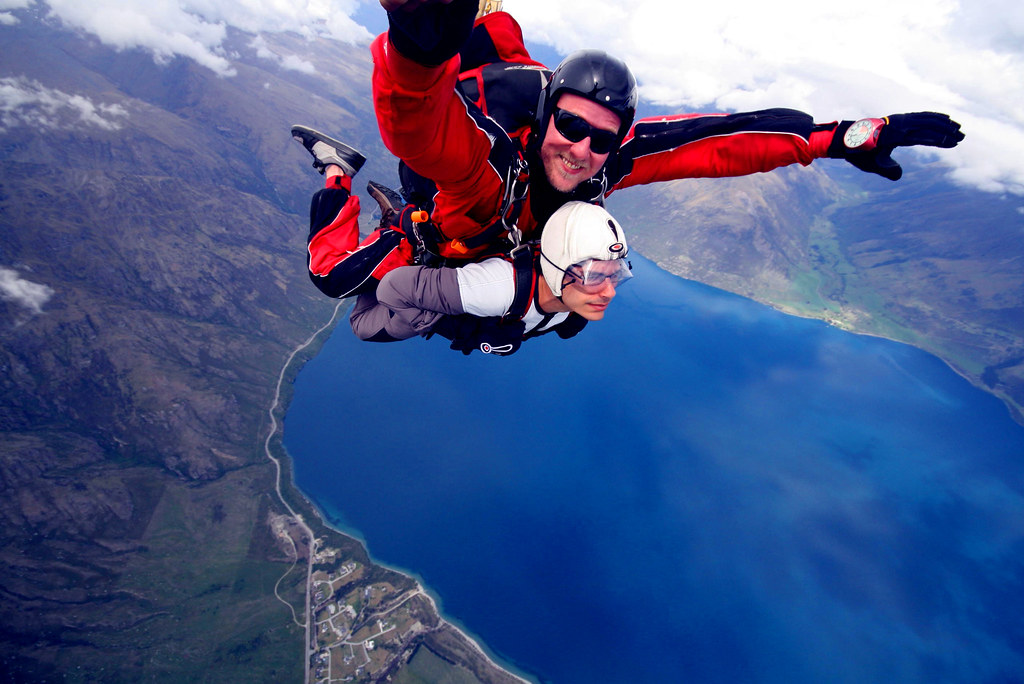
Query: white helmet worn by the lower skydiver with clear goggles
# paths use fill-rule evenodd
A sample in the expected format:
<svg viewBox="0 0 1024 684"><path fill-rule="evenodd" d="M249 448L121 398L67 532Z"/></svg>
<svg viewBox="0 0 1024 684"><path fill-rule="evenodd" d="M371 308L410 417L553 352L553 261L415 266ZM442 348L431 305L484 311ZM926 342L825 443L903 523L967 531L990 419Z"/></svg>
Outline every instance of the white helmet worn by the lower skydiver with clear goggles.
<svg viewBox="0 0 1024 684"><path fill-rule="evenodd" d="M556 297L562 296L566 274L586 280L590 262L625 259L627 254L623 227L596 204L566 203L551 215L541 231L541 272ZM572 266L581 269L568 273ZM623 261L622 266L613 274L613 283L631 276L628 262Z"/></svg>

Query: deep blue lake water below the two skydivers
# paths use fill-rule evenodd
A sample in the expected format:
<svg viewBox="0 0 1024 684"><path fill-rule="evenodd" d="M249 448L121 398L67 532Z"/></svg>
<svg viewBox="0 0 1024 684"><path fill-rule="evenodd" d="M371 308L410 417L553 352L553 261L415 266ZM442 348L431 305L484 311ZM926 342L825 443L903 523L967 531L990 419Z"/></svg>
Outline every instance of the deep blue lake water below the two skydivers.
<svg viewBox="0 0 1024 684"><path fill-rule="evenodd" d="M296 480L556 684L1024 680L1024 428L935 357L643 259L508 358L342 325Z"/></svg>

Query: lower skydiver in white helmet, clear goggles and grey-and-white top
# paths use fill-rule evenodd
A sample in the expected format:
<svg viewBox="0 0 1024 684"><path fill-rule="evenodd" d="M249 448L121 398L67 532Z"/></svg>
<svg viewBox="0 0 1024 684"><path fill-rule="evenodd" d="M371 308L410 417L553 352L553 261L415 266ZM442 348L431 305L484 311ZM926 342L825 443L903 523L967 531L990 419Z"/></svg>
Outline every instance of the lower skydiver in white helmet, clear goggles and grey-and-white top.
<svg viewBox="0 0 1024 684"><path fill-rule="evenodd" d="M467 354L507 354L522 340L550 332L568 338L600 320L616 288L632 277L622 226L597 205L563 205L545 223L539 249L524 249L525 276L504 257L458 268L396 268L376 297L356 301L352 330L361 339L437 334ZM524 313L515 310L517 295Z"/></svg>

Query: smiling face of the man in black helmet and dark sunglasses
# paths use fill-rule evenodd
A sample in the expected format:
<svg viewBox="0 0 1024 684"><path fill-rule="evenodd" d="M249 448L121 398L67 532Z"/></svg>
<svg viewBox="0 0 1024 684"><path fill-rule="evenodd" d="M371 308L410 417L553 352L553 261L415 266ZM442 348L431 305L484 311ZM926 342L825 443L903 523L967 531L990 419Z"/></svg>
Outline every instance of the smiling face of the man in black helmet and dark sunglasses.
<svg viewBox="0 0 1024 684"><path fill-rule="evenodd" d="M618 115L586 97L566 92L558 98L556 106L577 115L594 128L611 133L618 131ZM559 193L571 191L580 183L593 178L607 159L607 154L594 154L589 137L572 142L558 132L553 121L548 122L548 130L541 143L541 162L548 181Z"/></svg>

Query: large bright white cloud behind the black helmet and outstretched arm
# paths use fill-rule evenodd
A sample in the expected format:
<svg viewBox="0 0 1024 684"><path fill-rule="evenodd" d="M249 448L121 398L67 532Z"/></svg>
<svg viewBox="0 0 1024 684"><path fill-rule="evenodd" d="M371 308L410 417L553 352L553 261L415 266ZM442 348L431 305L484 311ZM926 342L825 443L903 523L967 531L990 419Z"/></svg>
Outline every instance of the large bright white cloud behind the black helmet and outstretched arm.
<svg viewBox="0 0 1024 684"><path fill-rule="evenodd" d="M968 138L935 159L962 182L1024 195L1020 3L890 0L865 11L809 0L506 0L505 8L528 40L561 54L602 47L626 59L648 105L792 106L822 122L948 113Z"/></svg>

